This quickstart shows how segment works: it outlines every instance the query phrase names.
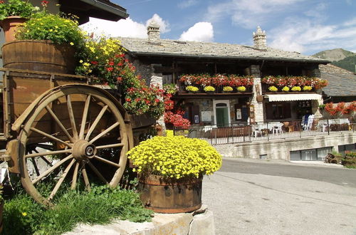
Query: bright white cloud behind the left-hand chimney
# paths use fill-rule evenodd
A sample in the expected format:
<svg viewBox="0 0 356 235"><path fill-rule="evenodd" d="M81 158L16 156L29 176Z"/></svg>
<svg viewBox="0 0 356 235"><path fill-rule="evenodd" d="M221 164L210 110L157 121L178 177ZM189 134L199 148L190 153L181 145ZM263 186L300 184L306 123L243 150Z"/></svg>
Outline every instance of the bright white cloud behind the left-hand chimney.
<svg viewBox="0 0 356 235"><path fill-rule="evenodd" d="M147 38L147 26L152 19L159 24L161 33L170 31L169 23L164 21L158 14L154 14L151 19L146 21L146 24L132 21L130 17L117 22L90 18L88 23L84 23L80 27L89 33L94 32L97 36L104 34L105 36L112 37Z"/></svg>

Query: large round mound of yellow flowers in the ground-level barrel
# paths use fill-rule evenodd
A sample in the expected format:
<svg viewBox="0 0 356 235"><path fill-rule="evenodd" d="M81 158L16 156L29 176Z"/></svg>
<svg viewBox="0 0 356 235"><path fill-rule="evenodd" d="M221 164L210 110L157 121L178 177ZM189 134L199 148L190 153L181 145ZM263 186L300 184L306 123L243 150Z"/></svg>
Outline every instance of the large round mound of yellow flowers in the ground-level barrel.
<svg viewBox="0 0 356 235"><path fill-rule="evenodd" d="M221 167L221 155L204 140L169 135L140 142L127 152L142 174L180 179L212 174Z"/></svg>

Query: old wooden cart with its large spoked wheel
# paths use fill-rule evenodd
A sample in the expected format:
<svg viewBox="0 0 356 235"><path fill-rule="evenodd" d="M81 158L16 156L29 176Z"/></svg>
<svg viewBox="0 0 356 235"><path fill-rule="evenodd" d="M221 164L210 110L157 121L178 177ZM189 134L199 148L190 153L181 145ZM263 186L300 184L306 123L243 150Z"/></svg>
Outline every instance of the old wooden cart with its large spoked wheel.
<svg viewBox="0 0 356 235"><path fill-rule="evenodd" d="M130 116L83 76L1 68L2 160L39 203L58 190L115 187L133 145Z"/></svg>

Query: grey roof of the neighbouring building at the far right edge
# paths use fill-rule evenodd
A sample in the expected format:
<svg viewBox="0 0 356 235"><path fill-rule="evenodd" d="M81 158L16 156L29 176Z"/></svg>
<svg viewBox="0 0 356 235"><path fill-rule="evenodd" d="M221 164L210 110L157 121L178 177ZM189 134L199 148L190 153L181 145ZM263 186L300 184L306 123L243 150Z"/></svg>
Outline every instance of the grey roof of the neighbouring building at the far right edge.
<svg viewBox="0 0 356 235"><path fill-rule="evenodd" d="M321 78L328 80L323 88L329 96L356 96L356 74L343 68L328 65L319 65Z"/></svg>

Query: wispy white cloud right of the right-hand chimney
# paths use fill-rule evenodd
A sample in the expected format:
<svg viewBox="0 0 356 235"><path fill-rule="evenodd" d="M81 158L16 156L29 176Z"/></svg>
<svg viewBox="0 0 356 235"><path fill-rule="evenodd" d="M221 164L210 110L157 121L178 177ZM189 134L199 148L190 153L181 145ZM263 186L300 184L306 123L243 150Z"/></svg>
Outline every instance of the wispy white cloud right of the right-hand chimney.
<svg viewBox="0 0 356 235"><path fill-rule="evenodd" d="M349 21L350 22L350 21ZM288 19L267 33L268 46L286 51L313 52L333 48L356 49L356 25L323 25L310 19Z"/></svg>

